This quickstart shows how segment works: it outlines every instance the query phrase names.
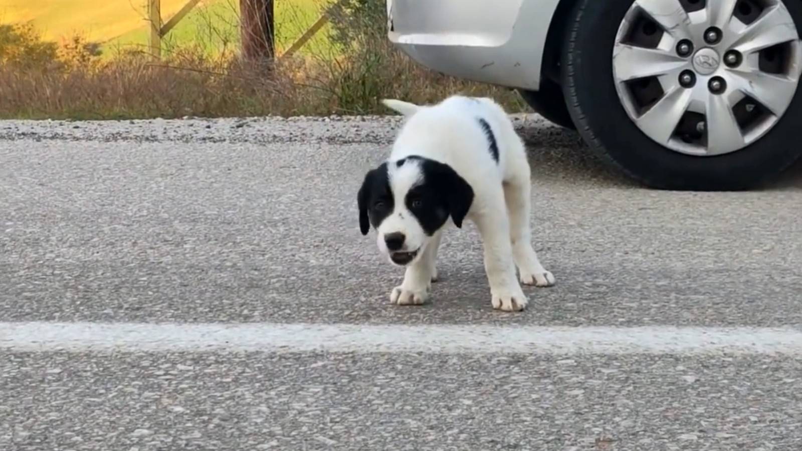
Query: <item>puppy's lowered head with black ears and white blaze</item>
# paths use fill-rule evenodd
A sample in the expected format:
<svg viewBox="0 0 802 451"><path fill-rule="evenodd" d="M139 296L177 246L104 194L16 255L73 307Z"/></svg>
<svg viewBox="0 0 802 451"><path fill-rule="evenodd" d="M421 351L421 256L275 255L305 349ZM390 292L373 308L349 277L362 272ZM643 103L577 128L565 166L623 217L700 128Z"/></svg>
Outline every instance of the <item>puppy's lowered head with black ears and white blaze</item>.
<svg viewBox="0 0 802 451"><path fill-rule="evenodd" d="M473 189L451 166L407 156L368 172L357 201L362 234L373 225L379 250L406 266L420 258L448 217L462 227Z"/></svg>

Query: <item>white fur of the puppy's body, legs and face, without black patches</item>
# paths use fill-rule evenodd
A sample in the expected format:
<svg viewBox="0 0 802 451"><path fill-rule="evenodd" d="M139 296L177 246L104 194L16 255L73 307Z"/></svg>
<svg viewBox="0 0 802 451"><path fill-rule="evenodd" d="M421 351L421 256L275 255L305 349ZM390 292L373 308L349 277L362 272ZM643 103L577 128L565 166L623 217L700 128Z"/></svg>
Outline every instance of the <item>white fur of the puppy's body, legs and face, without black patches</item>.
<svg viewBox="0 0 802 451"><path fill-rule="evenodd" d="M516 266L520 282L526 285L551 286L555 280L541 265L531 243L529 161L504 109L488 98L461 95L429 106L402 100L383 100L383 104L407 117L388 160L424 156L451 166L471 185L474 199L466 219L476 224L482 237L492 307L523 310L528 300L516 279ZM479 119L487 121L496 138L497 163ZM404 194L418 176L411 165L392 167L396 205L403 205ZM431 280L437 277L435 260L443 232L441 229L427 237L410 216L394 214L379 227L379 247L383 250L387 250L383 230L404 230L405 248L420 248L415 261L407 266L402 285L391 292L391 301L399 304L419 304L428 298Z"/></svg>

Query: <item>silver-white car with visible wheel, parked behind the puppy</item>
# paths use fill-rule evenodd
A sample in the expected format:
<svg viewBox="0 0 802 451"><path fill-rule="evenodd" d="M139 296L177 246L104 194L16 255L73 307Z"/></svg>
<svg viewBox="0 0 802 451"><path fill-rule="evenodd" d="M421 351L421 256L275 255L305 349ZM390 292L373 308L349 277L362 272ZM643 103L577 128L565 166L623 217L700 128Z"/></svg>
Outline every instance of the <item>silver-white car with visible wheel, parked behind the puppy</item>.
<svg viewBox="0 0 802 451"><path fill-rule="evenodd" d="M515 88L662 189L748 189L802 154L802 0L388 0L435 71Z"/></svg>

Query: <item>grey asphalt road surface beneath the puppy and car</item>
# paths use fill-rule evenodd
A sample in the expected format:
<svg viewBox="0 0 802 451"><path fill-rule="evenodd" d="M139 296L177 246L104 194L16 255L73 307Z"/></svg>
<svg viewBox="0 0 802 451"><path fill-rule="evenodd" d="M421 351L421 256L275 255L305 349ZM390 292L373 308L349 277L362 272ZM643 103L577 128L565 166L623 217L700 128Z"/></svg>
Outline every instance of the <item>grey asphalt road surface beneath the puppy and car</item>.
<svg viewBox="0 0 802 451"><path fill-rule="evenodd" d="M359 234L355 195L395 118L0 123L0 449L802 448L802 342L741 335L802 331L802 165L749 193L651 191L573 133L518 124L557 286L510 314L490 306L472 225L444 238L432 303L388 302L402 273ZM109 351L9 332L54 322L106 324L110 340L120 324L235 335ZM307 323L386 336L236 335ZM402 326L577 341L415 351ZM701 344L638 351L638 327L692 327ZM582 347L591 328L614 346ZM712 349L714 331L743 349Z"/></svg>

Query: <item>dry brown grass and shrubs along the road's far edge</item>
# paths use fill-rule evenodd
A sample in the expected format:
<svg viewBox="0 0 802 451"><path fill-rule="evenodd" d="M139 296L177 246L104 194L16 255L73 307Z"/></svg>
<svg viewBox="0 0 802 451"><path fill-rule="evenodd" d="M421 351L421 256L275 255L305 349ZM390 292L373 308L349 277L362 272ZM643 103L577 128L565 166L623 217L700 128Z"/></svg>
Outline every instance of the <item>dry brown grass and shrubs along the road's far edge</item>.
<svg viewBox="0 0 802 451"><path fill-rule="evenodd" d="M73 33L51 41L30 23L0 24L0 118L387 114L383 97L427 103L457 92L525 108L508 89L428 71L395 50L378 0L343 2L303 52L273 62L238 58L233 10L213 3L193 14L195 31L167 39L160 61L114 39ZM281 30L303 30L312 14L277 15L281 55L291 42Z"/></svg>

